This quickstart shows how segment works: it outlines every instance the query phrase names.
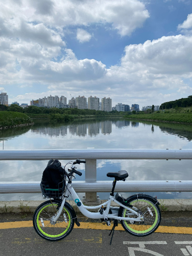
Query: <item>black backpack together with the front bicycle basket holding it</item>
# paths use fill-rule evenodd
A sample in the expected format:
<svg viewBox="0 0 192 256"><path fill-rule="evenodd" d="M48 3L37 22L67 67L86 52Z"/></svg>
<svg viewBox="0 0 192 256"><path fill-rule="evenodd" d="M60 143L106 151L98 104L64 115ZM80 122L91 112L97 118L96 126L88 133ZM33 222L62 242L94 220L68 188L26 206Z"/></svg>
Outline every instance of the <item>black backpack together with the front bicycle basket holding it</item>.
<svg viewBox="0 0 192 256"><path fill-rule="evenodd" d="M65 171L57 159L50 159L41 179L42 194L48 198L59 198L64 188Z"/></svg>

